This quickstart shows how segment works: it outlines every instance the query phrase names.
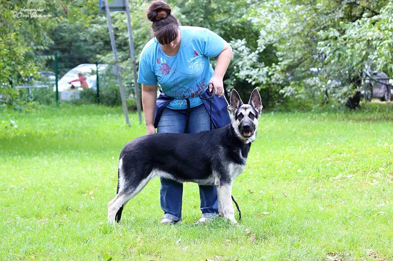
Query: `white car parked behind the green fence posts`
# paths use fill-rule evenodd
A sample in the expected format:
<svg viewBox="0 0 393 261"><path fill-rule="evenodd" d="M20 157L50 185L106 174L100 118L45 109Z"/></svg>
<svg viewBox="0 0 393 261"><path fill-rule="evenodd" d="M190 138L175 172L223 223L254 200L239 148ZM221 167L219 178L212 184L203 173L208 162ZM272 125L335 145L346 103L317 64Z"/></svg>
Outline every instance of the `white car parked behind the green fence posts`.
<svg viewBox="0 0 393 261"><path fill-rule="evenodd" d="M108 67L106 64L99 64L98 65L98 74L101 71L105 70ZM97 75L96 75L96 65L95 64L80 64L77 67L67 71L66 74L61 77L60 80L57 82L58 91L63 92L70 90L71 84L69 83L72 80L78 79L78 73L82 72L84 77L86 77L87 85L89 88L96 90L96 82L97 82ZM72 83L78 89L81 88L81 83L79 81ZM82 88L81 88L82 89ZM56 91L56 85L54 86L54 91Z"/></svg>

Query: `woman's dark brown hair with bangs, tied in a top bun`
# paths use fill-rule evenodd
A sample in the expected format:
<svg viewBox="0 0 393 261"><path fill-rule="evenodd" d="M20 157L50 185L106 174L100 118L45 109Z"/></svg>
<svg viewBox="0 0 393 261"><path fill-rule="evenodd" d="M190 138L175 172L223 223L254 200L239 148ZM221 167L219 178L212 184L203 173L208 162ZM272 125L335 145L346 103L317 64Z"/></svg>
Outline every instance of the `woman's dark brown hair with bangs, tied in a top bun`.
<svg viewBox="0 0 393 261"><path fill-rule="evenodd" d="M160 44L169 44L177 37L179 21L170 11L169 5L160 0L152 2L147 10L147 19L153 22L153 36Z"/></svg>

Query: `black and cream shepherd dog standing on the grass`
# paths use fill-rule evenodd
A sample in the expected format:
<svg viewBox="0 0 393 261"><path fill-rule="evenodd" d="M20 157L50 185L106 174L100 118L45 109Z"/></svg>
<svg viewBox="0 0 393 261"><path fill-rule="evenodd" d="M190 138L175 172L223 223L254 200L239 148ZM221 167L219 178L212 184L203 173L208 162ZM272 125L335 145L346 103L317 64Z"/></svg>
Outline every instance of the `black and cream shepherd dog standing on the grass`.
<svg viewBox="0 0 393 261"><path fill-rule="evenodd" d="M155 133L129 142L118 161L117 194L108 203L108 222L120 221L127 202L153 177L216 185L219 214L236 224L232 183L243 171L256 139L262 102L255 88L248 104L236 90L230 95L231 122L196 134Z"/></svg>

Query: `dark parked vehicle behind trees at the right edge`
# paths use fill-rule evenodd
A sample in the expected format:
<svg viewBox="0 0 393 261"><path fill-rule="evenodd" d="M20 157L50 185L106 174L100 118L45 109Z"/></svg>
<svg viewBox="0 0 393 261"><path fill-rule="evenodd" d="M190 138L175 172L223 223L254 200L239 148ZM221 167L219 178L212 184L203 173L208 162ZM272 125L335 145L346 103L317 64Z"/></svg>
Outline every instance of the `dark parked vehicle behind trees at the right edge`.
<svg viewBox="0 0 393 261"><path fill-rule="evenodd" d="M385 72L374 71L366 80L365 90L361 91L361 95L367 100L378 98L381 101L389 101L393 97L392 80Z"/></svg>

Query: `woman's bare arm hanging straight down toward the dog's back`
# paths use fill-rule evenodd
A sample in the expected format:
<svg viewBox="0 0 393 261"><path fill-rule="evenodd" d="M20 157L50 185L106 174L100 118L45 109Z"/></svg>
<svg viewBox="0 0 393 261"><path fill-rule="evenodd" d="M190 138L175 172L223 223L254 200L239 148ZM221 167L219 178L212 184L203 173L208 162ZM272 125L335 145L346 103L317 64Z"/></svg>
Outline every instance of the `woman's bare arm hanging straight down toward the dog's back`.
<svg viewBox="0 0 393 261"><path fill-rule="evenodd" d="M154 113L156 111L157 85L142 84L142 107L147 134L156 133Z"/></svg>

